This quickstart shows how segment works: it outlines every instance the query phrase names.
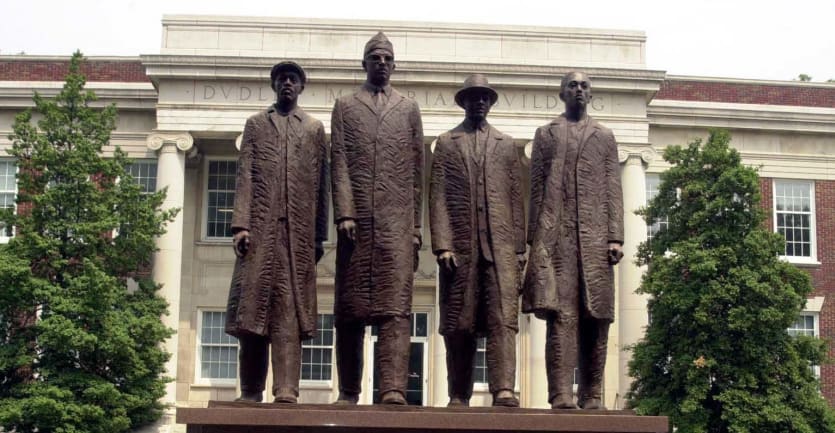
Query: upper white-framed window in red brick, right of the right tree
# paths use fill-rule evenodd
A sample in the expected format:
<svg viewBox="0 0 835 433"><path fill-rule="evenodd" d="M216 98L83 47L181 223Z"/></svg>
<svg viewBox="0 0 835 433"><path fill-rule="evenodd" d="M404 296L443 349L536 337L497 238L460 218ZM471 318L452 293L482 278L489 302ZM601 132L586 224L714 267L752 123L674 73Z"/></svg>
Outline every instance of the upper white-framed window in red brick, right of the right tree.
<svg viewBox="0 0 835 433"><path fill-rule="evenodd" d="M816 262L814 183L774 181L774 230L786 238L784 257Z"/></svg>

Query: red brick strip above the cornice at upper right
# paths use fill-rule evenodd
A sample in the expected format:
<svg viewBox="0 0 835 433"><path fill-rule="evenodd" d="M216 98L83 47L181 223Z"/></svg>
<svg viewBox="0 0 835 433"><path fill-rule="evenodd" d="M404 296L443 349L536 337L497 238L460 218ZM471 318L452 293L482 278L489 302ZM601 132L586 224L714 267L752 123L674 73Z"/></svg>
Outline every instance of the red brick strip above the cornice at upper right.
<svg viewBox="0 0 835 433"><path fill-rule="evenodd" d="M835 86L666 80L655 99L835 108Z"/></svg>

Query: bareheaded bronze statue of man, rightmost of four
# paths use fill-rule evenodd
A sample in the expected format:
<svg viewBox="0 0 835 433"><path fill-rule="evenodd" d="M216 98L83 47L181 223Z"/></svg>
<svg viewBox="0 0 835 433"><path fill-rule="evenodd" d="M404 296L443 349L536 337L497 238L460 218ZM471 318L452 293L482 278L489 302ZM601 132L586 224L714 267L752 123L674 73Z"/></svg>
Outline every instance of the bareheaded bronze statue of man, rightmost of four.
<svg viewBox="0 0 835 433"><path fill-rule="evenodd" d="M603 369L623 257L623 191L612 131L589 117L591 81L562 79L565 112L536 131L531 155L530 262L522 311L547 321L545 364L554 409L604 409ZM577 405L572 378L579 364Z"/></svg>

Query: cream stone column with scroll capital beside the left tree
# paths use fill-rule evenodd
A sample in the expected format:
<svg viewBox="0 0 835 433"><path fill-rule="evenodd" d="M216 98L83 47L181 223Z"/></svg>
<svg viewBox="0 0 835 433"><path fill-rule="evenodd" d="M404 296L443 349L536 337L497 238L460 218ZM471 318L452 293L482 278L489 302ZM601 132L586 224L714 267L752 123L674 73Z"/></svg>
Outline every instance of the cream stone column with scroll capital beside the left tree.
<svg viewBox="0 0 835 433"><path fill-rule="evenodd" d="M185 193L185 160L194 144L187 132L154 132L148 136L148 148L157 151L157 191L168 188L163 209L182 209ZM165 227L165 234L157 238L158 251L154 254L151 273L154 281L162 285L161 295L168 302L168 315L163 316L165 326L174 330L174 335L165 342L165 350L171 354L166 364L166 375L173 378L166 384L163 403L169 405L158 431L167 432L174 425L174 405L177 402L177 352L180 329L180 279L183 257L183 212L177 213Z"/></svg>

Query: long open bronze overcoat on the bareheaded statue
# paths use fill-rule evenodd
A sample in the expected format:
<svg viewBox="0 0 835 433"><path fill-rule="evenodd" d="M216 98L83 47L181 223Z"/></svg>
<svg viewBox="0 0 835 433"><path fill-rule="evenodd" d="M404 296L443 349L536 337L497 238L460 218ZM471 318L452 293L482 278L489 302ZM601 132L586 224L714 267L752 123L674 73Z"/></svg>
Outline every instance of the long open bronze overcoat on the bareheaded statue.
<svg viewBox="0 0 835 433"><path fill-rule="evenodd" d="M608 244L623 244L623 191L618 150L612 131L594 119L577 153L577 215L579 236L566 233L563 215L563 167L568 120L558 117L536 131L531 154L531 202L528 224L530 259L522 295L522 311L542 317L560 313L557 287L580 278L583 306L596 319L614 320L614 271ZM565 210L573 211L573 210ZM579 238L579 245L576 239ZM581 275L567 269L563 258L578 254Z"/></svg>

